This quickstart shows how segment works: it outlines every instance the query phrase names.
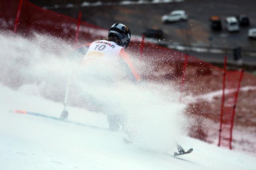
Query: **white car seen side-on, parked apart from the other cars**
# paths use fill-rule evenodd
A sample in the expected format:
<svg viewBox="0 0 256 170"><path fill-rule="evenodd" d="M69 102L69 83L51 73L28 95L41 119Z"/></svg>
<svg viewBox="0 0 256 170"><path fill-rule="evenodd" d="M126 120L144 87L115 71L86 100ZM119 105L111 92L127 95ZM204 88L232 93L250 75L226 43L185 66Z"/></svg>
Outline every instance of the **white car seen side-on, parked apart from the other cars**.
<svg viewBox="0 0 256 170"><path fill-rule="evenodd" d="M166 14L162 16L163 22L174 22L174 21L180 21L180 20L187 20L188 16L186 15L186 12L184 10L175 10L170 12L170 14Z"/></svg>

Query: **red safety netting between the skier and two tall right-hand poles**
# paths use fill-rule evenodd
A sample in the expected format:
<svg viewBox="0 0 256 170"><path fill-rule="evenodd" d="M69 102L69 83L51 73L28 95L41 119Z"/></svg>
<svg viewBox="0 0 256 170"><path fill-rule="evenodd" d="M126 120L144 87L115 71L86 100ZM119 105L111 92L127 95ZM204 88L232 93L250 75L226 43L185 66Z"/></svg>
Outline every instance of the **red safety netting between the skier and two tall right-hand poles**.
<svg viewBox="0 0 256 170"><path fill-rule="evenodd" d="M139 45L134 51L139 51ZM132 47L134 47L133 45ZM162 47L160 45L145 43L141 59L148 61L152 72L146 72L145 77L155 79L176 80L178 84L184 81L184 91L193 94L204 94L218 90L222 87L222 68L196 59L190 55ZM184 65L185 64L185 65ZM182 78L183 76L183 78Z"/></svg>

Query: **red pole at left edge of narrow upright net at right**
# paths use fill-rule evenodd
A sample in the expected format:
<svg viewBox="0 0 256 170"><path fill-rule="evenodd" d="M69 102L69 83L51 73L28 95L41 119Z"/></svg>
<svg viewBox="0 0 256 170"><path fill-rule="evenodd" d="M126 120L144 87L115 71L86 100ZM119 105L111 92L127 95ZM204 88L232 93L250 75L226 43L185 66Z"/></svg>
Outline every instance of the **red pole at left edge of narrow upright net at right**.
<svg viewBox="0 0 256 170"><path fill-rule="evenodd" d="M222 131L222 121L223 121L223 112L224 112L224 101L225 101L225 83L226 83L226 72L227 72L227 57L224 58L224 73L223 73L223 84L222 84L222 101L220 109L220 129L219 129L219 142L218 147L220 146L220 138Z"/></svg>

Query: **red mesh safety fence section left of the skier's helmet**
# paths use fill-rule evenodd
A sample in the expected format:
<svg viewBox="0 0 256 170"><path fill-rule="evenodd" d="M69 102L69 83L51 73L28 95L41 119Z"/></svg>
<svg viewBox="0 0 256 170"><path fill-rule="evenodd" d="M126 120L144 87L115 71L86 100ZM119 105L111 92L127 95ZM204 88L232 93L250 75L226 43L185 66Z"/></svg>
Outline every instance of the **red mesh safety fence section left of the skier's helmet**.
<svg viewBox="0 0 256 170"><path fill-rule="evenodd" d="M105 29L83 21L80 22L80 31L77 32L77 19L44 10L27 0L0 0L0 7L0 28L26 36L33 32L47 33L71 43L78 39L79 43L105 37L107 33Z"/></svg>

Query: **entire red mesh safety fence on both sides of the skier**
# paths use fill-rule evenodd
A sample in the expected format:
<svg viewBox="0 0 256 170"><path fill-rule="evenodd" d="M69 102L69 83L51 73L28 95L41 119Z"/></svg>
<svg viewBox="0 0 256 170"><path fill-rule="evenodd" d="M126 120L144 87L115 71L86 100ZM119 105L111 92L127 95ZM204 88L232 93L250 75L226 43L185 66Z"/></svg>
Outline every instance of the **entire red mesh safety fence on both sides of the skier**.
<svg viewBox="0 0 256 170"><path fill-rule="evenodd" d="M0 0L0 8L0 29L11 30L14 33L25 36L32 36L34 32L38 32L57 36L74 45L80 45L88 41L104 38L107 35L107 30L80 21L81 13L79 13L77 20L44 10L27 0ZM229 139L231 149L238 87L242 80L240 71L226 71L178 51L152 43L145 43L144 37L142 42L132 41L128 47L128 52L132 53L133 56L138 56L141 61L146 63L140 69L142 78L158 81L173 80L180 85L179 88L182 92L192 93L193 95L202 95L222 89L222 75L225 72L223 88L225 95L223 95L221 106L222 112L220 114L219 111L214 110L214 113L221 115L220 139L222 135L228 134L226 138ZM253 78L253 82L244 81L244 85L254 84L255 77ZM230 92L230 90L233 91ZM219 100L215 102L220 104ZM208 113L210 111L205 114ZM229 121L227 121L226 117L228 117ZM224 124L226 125L226 122L229 123L229 133L224 133ZM222 139L224 138L222 137ZM219 145L221 144L219 141Z"/></svg>

